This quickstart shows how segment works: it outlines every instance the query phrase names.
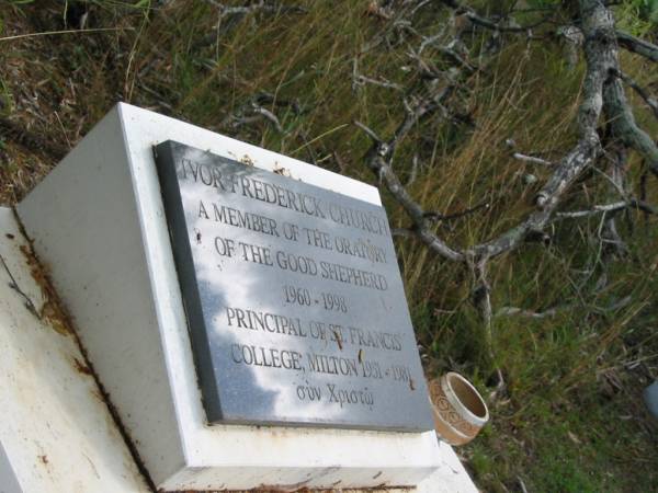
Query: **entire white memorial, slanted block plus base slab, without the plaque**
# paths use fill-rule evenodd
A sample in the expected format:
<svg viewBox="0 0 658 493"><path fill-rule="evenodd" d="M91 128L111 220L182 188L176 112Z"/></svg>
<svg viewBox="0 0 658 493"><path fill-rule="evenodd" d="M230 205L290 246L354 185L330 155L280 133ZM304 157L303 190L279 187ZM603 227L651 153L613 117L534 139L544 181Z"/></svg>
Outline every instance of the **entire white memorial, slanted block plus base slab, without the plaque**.
<svg viewBox="0 0 658 493"><path fill-rule="evenodd" d="M167 139L264 169L283 167L296 179L379 203L377 191L363 183L121 104L19 206L156 486L476 491L454 451L433 432L205 423L151 153L154 144ZM11 214L4 210L0 219L16 237ZM8 272L27 298L38 300L29 265L11 241L0 239ZM77 491L78 485L78 491L145 491L93 380L77 367L81 358L73 337L35 318L24 307L26 297L3 286L0 334L14 356L0 363L5 365L0 402L3 414L35 429L25 437L16 426L1 427L0 475L7 477L1 483L13 478L23 491ZM31 483L42 469L42 482ZM26 486L32 484L48 486Z"/></svg>

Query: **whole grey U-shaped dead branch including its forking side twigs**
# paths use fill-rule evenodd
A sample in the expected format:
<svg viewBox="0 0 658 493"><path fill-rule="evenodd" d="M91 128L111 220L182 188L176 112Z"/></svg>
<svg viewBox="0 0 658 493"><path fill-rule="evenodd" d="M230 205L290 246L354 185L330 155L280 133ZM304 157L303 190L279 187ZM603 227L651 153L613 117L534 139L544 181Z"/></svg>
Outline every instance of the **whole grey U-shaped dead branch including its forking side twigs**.
<svg viewBox="0 0 658 493"><path fill-rule="evenodd" d="M525 30L525 27L511 27L509 25L497 23L479 18L475 11L463 7L455 0L443 0L444 4L453 8L455 13L466 14L474 23L484 25L496 32L511 31L517 32ZM434 221L445 220L446 215L426 211L407 188L402 185L397 173L394 170L395 150L399 144L406 138L409 131L424 118L439 114L447 122L453 119L446 105L450 102L450 94L456 90L457 84L468 73L463 62L452 59L455 64L450 69L451 77L447 83L443 83L440 91L428 91L427 88L432 88L432 84L426 84L426 93L413 98L409 96L404 101L405 117L398 124L396 130L389 137L382 137L375 130L367 126L358 123L358 126L363 129L366 135L373 140L372 147L365 156L366 165L376 174L379 183L393 195L393 197L401 205L406 214L411 219L412 226L405 230L396 230L396 233L405 237L415 234L422 241L431 251L439 254L443 259L463 263L472 273L473 290L472 302L477 308L486 330L487 347L494 358L491 345L491 322L492 322L492 306L491 306L491 285L487 276L488 262L499 255L509 253L518 249L525 241L533 239L547 240L547 234L544 229L547 228L556 218L577 218L587 217L594 214L601 214L601 227L599 228L599 237L601 244L605 241L614 241L619 238L614 226L613 215L620 210L637 208L639 210L651 210L654 207L646 204L644 200L627 198L624 191L623 181L619 184L619 176L615 174L612 177L613 183L619 187L619 192L624 198L621 202L593 206L586 211L558 213L558 208L564 200L566 192L575 184L579 176L587 169L594 169L601 156L604 156L604 149L599 137L598 126L603 112L609 123L610 134L613 135L612 147L617 142L624 146L632 146L640 150L645 157L651 157L651 147L654 142L648 145L644 140L646 134L640 130L635 124L634 116L623 92L620 78L614 77L619 70L617 43L616 33L614 31L614 20L608 7L600 0L580 0L580 31L582 33L582 49L586 60L586 76L582 85L582 96L579 105L578 114L578 130L579 139L577 144L568 151L560 160L551 162L541 158L534 158L520 152L513 152L512 157L525 162L551 167L552 174L544 183L541 191L534 199L534 210L526 216L517 226L504 231L502 234L490 239L484 243L470 245L467 248L455 248L450 245L443 238L435 232ZM412 30L411 30L412 31ZM420 36L422 39L421 47L433 42L432 37ZM421 49L411 50L410 57L418 61L419 71L424 77L438 81L444 72L436 70L430 62L420 57ZM647 137L648 138L648 137ZM513 141L509 140L510 147L514 147ZM625 165L625 148L620 150L616 165ZM622 156L623 154L623 156ZM649 160L651 170L658 170L658 165L653 164ZM417 164L415 163L415 167ZM413 170L412 170L413 172ZM616 173L616 171L615 171ZM616 188L615 188L616 190ZM470 214L477 210L478 205L467 209L465 214ZM608 228L603 231L604 226ZM601 234L608 234L605 239ZM610 234L613 233L613 234ZM548 238L549 239L549 238ZM619 245L620 248L623 244ZM526 310L507 307L499 311L500 314L522 314L532 318L549 317L557 312L557 308L546 310L545 312L529 312ZM497 371L499 376L499 386L494 392L494 397L499 391L504 389L502 372Z"/></svg>

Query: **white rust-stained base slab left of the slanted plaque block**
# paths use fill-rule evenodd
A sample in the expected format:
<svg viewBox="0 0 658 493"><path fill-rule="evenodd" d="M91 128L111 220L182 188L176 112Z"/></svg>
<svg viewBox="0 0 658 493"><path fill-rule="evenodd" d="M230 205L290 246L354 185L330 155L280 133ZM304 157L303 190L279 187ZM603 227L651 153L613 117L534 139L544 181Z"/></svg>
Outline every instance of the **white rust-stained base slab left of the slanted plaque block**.
<svg viewBox="0 0 658 493"><path fill-rule="evenodd" d="M77 369L73 337L10 287L8 272L41 310L21 244L13 213L0 208L0 492L147 492L95 382Z"/></svg>

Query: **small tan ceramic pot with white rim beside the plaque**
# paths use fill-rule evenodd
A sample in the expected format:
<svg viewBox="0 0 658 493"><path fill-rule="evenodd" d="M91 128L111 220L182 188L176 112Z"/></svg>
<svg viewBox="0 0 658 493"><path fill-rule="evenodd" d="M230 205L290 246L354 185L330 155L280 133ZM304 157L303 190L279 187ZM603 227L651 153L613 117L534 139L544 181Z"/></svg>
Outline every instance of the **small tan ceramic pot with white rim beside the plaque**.
<svg viewBox="0 0 658 493"><path fill-rule="evenodd" d="M450 371L429 382L430 401L434 409L434 427L451 445L470 442L489 421L487 404L460 374Z"/></svg>

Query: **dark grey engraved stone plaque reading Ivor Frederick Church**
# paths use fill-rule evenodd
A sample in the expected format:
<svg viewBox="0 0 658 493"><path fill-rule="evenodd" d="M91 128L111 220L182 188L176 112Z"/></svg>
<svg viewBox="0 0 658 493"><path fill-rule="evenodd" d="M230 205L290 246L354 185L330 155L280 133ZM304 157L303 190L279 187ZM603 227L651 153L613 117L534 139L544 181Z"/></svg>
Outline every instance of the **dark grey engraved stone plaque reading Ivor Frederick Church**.
<svg viewBox="0 0 658 493"><path fill-rule="evenodd" d="M211 423L433 429L382 207L156 148Z"/></svg>

